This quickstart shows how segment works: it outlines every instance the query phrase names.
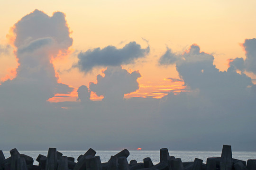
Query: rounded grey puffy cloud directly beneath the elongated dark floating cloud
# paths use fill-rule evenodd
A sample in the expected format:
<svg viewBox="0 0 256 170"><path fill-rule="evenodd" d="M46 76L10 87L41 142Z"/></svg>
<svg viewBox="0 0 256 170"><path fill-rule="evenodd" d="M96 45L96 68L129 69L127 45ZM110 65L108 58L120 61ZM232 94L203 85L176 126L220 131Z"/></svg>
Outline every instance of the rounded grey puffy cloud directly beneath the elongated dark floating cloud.
<svg viewBox="0 0 256 170"><path fill-rule="evenodd" d="M90 90L98 96L104 95L104 100L122 100L124 94L135 92L139 89L137 78L141 77L138 71L129 73L119 67L108 67L104 77L97 76L97 83L90 83Z"/></svg>

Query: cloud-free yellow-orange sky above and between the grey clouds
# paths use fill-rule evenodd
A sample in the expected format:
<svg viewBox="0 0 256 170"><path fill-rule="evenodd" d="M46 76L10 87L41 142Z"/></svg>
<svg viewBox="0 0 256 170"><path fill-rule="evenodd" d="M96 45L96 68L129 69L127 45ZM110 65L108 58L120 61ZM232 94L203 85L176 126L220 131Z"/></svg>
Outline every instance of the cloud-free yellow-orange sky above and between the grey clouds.
<svg viewBox="0 0 256 170"><path fill-rule="evenodd" d="M171 82L168 77L179 78L175 66L159 67L158 59L166 51L166 47L182 53L193 43L201 47L201 51L213 54L214 64L221 71L228 68L228 59L245 57L239 43L256 34L256 1L175 1L169 0L96 0L96 1L37 1L29 0L12 3L2 2L0 7L0 44L6 46L6 35L9 29L21 17L39 9L52 16L55 11L66 14L66 20L72 31L73 46L68 55L53 60L60 81L75 88L70 98L55 97L49 101L76 100L76 90L81 85L89 86L96 82L96 76L102 69L93 69L84 75L77 68L71 68L80 51L93 48L104 48L108 45L122 48L131 41L136 41L150 53L146 58L139 59L135 64L124 65L127 70L138 70L139 90L126 94L129 97L162 97L165 92L174 90L179 93L185 88L182 82ZM25 5L26 4L26 5ZM136 5L135 5L136 4ZM20 8L22 6L22 8ZM12 9L12 12L9 9ZM238 10L239 9L239 10ZM148 40L148 43L143 39ZM9 53L1 54L0 78L13 78L17 61L12 48ZM255 75L248 74L253 79ZM56 94L59 95L59 94ZM100 100L95 94L92 100Z"/></svg>

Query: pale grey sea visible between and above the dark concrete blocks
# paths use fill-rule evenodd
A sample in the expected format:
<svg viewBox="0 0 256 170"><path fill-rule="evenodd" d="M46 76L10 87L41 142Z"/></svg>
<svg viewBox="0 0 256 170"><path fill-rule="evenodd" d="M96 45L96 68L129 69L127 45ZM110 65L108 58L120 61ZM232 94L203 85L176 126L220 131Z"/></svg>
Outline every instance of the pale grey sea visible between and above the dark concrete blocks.
<svg viewBox="0 0 256 170"><path fill-rule="evenodd" d="M63 156L74 157L75 161L77 158L84 154L86 151L59 151L63 153ZM96 151L96 156L100 156L101 162L107 162L111 155L115 155L120 151ZM143 159L150 157L153 164L157 164L160 161L160 150L158 151L129 151L128 162L136 160L137 162L143 162ZM9 151L3 151L5 158L10 157ZM34 159L34 165L38 165L36 161L39 154L47 156L48 151L19 151L19 153L26 154ZM220 157L220 151L169 151L170 156L175 158L181 158L183 162L194 161L195 158L199 158L206 163L206 159L209 157ZM232 151L232 158L247 161L248 159L256 159L256 152L234 152Z"/></svg>

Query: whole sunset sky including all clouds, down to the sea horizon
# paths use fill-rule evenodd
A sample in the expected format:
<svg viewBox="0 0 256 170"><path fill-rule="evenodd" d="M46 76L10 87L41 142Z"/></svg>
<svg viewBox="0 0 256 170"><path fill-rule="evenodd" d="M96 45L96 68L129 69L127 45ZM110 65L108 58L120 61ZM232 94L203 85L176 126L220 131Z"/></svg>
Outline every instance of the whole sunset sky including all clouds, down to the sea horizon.
<svg viewBox="0 0 256 170"><path fill-rule="evenodd" d="M1 2L0 149L256 151L255 8Z"/></svg>

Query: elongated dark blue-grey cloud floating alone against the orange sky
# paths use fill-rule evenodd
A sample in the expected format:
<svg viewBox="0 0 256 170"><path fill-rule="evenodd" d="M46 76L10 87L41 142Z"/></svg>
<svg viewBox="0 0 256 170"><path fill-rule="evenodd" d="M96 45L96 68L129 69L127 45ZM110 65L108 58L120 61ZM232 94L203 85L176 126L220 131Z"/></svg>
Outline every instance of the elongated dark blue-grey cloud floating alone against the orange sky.
<svg viewBox="0 0 256 170"><path fill-rule="evenodd" d="M129 42L122 49L107 46L96 48L78 54L78 62L73 67L82 72L89 72L95 67L120 66L133 63L136 59L145 57L150 51L149 46L142 49L136 42Z"/></svg>

